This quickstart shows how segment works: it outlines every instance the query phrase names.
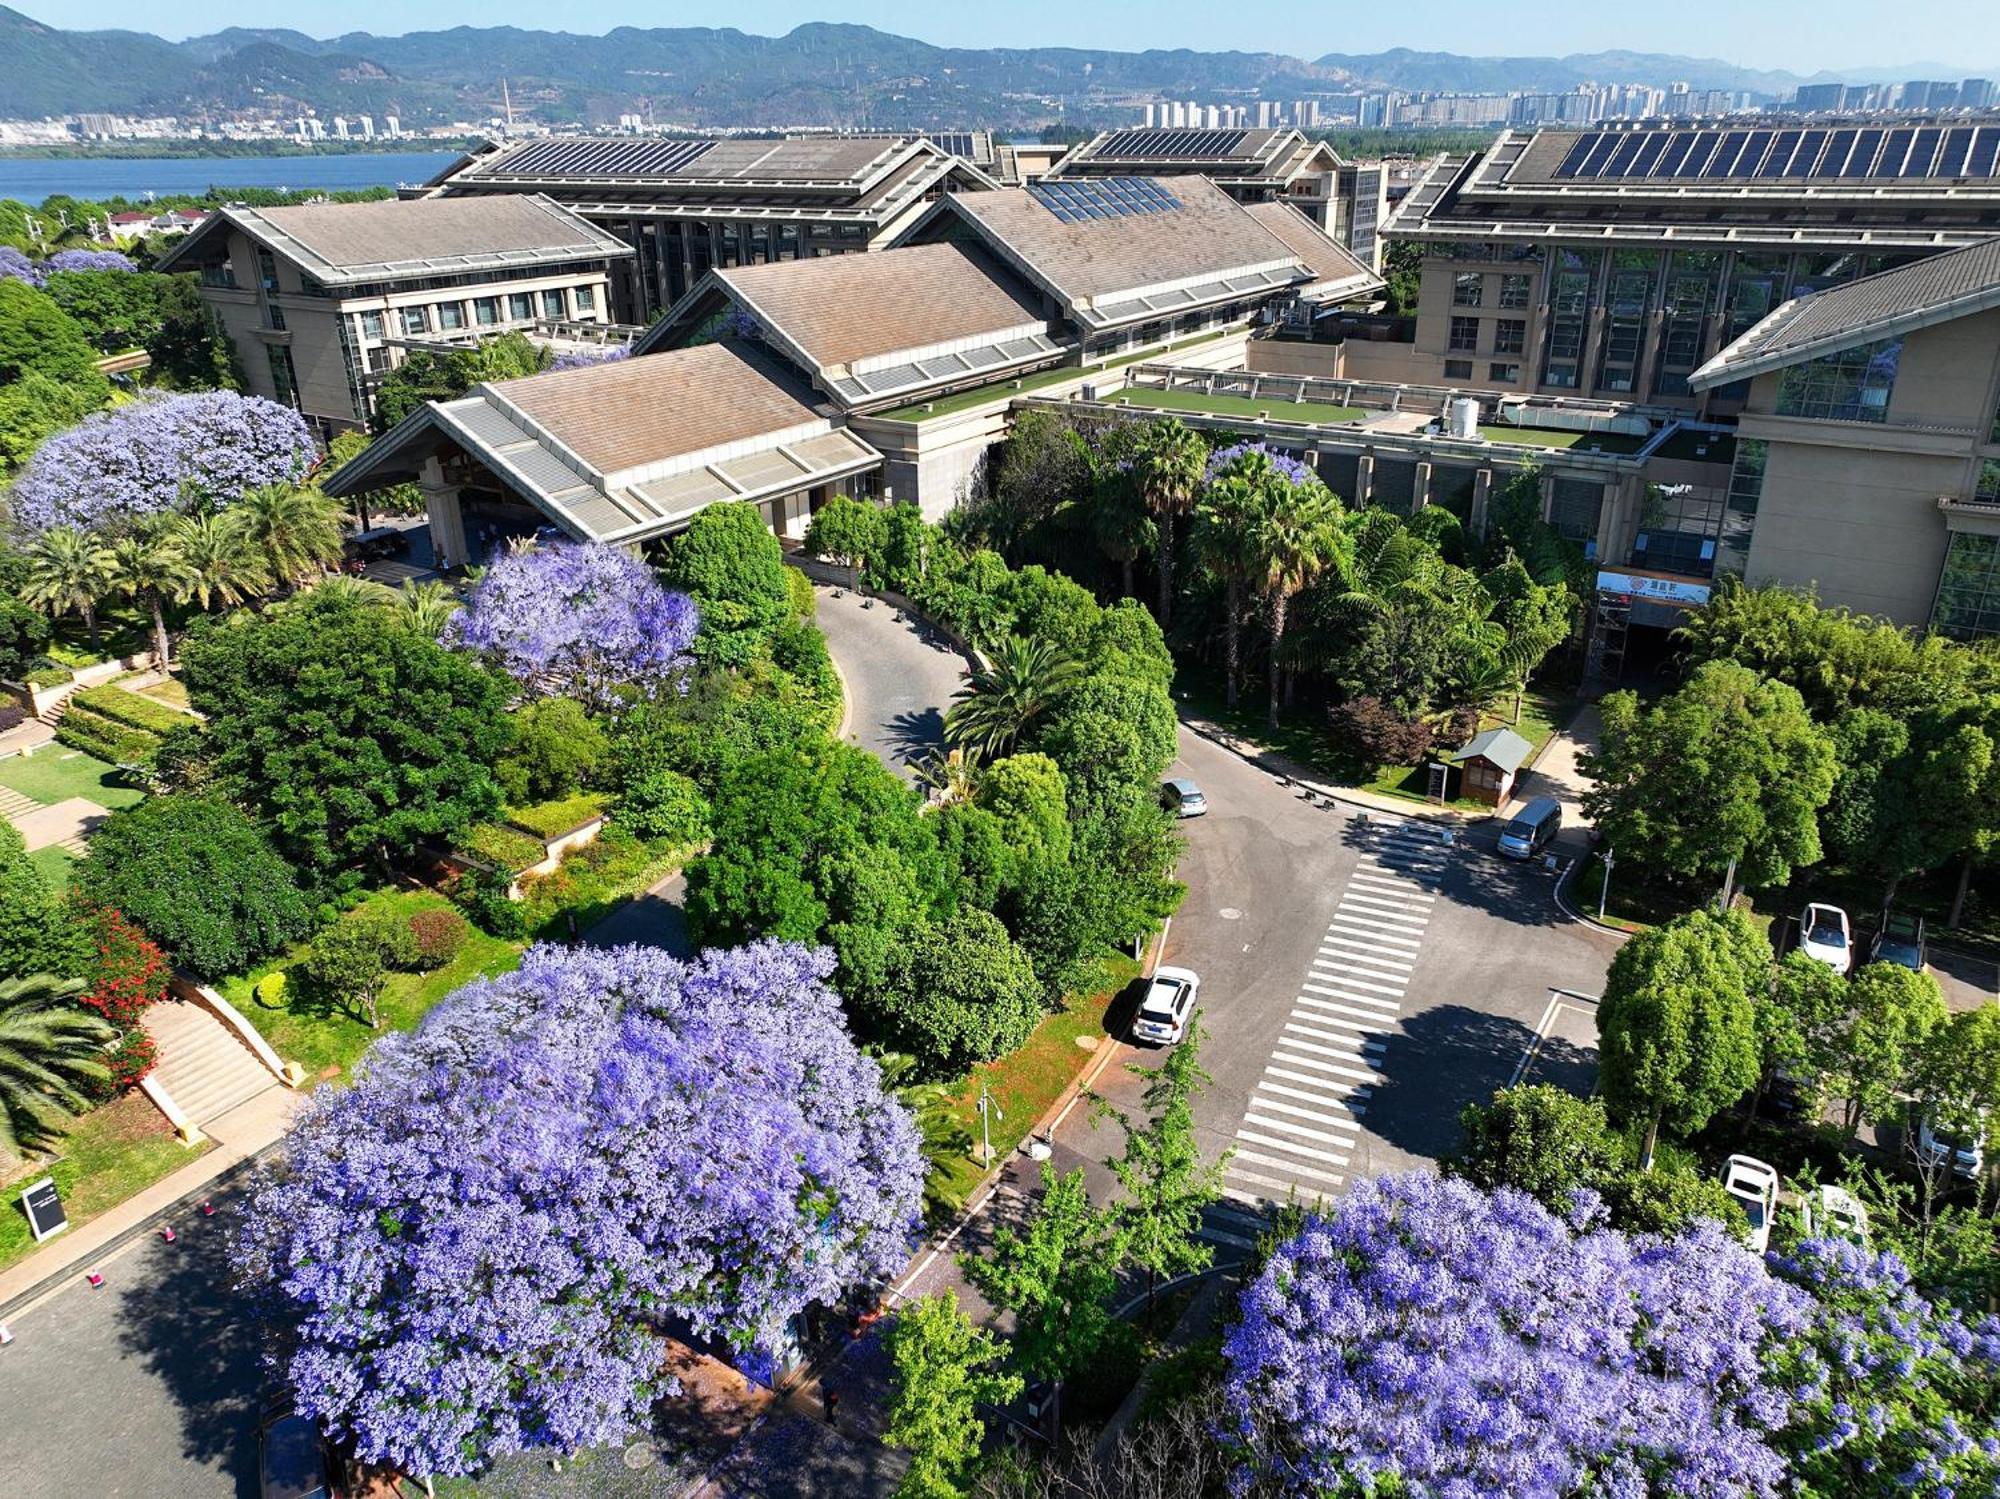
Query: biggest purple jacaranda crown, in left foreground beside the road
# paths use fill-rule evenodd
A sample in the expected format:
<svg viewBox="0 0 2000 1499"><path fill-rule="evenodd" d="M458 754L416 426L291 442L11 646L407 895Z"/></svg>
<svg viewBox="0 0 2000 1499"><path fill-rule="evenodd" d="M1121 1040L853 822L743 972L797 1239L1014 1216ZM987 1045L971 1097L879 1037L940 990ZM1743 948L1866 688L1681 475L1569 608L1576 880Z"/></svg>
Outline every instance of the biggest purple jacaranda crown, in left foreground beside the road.
<svg viewBox="0 0 2000 1499"><path fill-rule="evenodd" d="M830 967L534 947L378 1041L306 1103L238 1243L298 1407L418 1475L616 1441L672 1393L662 1323L762 1369L902 1263L916 1125Z"/></svg>

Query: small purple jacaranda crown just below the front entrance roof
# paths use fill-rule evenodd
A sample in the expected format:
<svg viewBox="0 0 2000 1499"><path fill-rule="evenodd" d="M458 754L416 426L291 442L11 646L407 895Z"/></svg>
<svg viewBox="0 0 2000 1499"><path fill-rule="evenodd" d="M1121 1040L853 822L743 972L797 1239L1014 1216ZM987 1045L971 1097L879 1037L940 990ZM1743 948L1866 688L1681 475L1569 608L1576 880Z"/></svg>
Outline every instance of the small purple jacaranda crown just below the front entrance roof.
<svg viewBox="0 0 2000 1499"><path fill-rule="evenodd" d="M680 682L698 624L694 600L644 562L588 542L496 562L442 640L486 654L536 696L612 708L626 688L650 698Z"/></svg>

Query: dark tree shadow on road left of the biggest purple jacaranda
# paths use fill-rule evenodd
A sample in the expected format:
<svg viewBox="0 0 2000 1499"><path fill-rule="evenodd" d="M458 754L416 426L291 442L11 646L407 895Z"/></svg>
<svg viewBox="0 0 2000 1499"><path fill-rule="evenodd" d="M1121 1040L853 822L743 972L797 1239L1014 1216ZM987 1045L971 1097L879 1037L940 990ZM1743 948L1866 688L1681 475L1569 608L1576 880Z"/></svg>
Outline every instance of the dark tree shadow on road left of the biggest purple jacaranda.
<svg viewBox="0 0 2000 1499"><path fill-rule="evenodd" d="M190 1459L222 1463L242 1499L256 1499L260 1323L236 1291L228 1205L172 1217L176 1241L138 1251L138 1275L120 1277L120 1347L152 1373L178 1411Z"/></svg>

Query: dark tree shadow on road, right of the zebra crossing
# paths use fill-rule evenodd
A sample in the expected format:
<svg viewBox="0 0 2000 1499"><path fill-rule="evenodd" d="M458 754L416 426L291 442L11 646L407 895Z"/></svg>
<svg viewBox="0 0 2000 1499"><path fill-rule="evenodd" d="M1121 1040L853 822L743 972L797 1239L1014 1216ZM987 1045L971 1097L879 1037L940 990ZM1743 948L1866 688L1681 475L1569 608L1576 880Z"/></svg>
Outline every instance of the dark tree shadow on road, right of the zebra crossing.
<svg viewBox="0 0 2000 1499"><path fill-rule="evenodd" d="M1396 1149L1444 1157L1458 1149L1458 1111L1508 1085L1536 1031L1470 1005L1438 1005L1384 1037L1382 1081L1362 1123ZM1596 1051L1542 1037L1534 1079L1572 1085L1596 1073Z"/></svg>

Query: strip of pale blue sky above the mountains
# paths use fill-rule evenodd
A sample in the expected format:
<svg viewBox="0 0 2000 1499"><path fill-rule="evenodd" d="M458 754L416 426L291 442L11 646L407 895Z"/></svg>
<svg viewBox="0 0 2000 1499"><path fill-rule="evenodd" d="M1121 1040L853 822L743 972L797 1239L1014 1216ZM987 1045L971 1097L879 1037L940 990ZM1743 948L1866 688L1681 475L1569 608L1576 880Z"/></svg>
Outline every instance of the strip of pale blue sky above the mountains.
<svg viewBox="0 0 2000 1499"><path fill-rule="evenodd" d="M730 0L730 4L640 4L638 0L338 0L280 6L274 0L96 0L88 20L74 6L28 0L52 26L130 26L188 36L222 26L296 26L412 32L446 26L716 26L782 34L806 20L850 20L946 46L1058 46L1268 50L1294 56L1380 52L1408 46L1476 56L1564 54L1624 48L1714 56L1752 68L1880 68L1930 60L1942 76L2000 66L1996 0L1708 0L1706 4L1618 4L1606 0L1414 0L1344 4L1316 0ZM1724 20L1726 16L1726 20Z"/></svg>

